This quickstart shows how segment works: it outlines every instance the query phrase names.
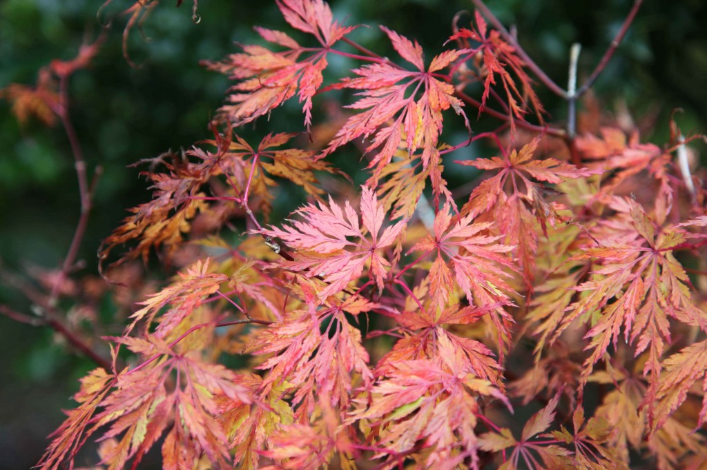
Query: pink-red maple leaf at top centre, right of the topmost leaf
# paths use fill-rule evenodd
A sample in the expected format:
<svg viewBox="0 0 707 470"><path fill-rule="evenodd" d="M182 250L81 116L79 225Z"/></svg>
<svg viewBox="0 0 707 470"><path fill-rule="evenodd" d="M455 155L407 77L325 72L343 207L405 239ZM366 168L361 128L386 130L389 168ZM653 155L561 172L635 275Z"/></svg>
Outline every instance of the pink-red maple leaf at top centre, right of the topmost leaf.
<svg viewBox="0 0 707 470"><path fill-rule="evenodd" d="M361 100L348 107L364 111L351 116L322 152L325 156L351 140L373 135L372 142L366 147L366 152L378 150L368 164L369 168L375 167L372 183L390 163L403 135L407 152L412 154L418 148L422 149L421 159L425 168L428 164L437 163L438 158L434 154L442 133L443 111L454 109L464 117L469 128L468 119L462 111L463 103L454 96L454 86L435 76L436 72L457 59L460 51L449 50L435 56L425 71L420 44L385 27L380 28L390 38L398 54L416 70L408 71L390 61L380 61L354 69L357 78L344 78L334 85L333 88L361 90L358 93Z"/></svg>

